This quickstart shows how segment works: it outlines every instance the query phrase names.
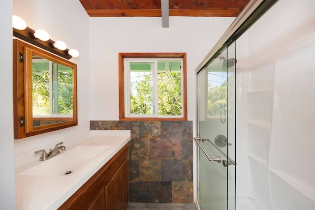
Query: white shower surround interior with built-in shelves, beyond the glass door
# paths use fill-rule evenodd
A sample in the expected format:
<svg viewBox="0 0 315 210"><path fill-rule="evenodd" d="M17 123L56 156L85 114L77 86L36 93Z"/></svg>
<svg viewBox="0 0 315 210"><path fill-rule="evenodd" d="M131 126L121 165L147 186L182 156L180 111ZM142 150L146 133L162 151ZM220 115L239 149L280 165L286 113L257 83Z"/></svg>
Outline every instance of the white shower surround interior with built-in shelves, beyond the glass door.
<svg viewBox="0 0 315 210"><path fill-rule="evenodd" d="M236 41L236 197L260 210L315 209L314 8L279 0Z"/></svg>

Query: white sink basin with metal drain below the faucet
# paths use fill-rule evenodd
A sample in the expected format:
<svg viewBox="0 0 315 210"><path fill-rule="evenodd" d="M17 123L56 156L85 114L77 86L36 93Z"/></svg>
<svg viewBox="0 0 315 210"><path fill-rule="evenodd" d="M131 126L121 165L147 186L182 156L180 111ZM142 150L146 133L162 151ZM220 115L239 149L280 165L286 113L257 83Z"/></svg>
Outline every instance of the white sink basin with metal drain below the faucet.
<svg viewBox="0 0 315 210"><path fill-rule="evenodd" d="M65 150L51 159L28 169L19 175L24 176L69 176L82 171L93 159L110 146L77 146Z"/></svg>

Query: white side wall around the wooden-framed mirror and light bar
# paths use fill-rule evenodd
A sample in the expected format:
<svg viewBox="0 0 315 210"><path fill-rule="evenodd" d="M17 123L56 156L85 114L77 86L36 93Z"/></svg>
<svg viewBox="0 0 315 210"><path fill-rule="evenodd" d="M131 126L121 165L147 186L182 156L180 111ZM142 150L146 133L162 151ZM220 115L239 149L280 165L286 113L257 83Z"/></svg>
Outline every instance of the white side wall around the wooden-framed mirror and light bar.
<svg viewBox="0 0 315 210"><path fill-rule="evenodd" d="M78 126L14 140L15 164L19 165L39 158L38 155L33 154L35 150L48 150L62 141L66 146L88 136L90 130L90 102L88 100L90 34L89 16L78 0L14 0L13 14L23 18L31 29L44 29L49 32L52 40L63 40L69 49L75 48L80 53L78 58L70 60L77 64ZM10 32L12 34L12 31ZM10 75L9 78L11 80L12 76Z"/></svg>

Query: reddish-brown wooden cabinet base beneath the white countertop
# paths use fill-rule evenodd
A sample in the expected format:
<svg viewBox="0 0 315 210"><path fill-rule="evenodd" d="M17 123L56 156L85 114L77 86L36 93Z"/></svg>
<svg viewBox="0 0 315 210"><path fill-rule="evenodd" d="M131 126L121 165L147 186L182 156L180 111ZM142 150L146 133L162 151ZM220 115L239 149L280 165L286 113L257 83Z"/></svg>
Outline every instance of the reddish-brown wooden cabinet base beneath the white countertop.
<svg viewBox="0 0 315 210"><path fill-rule="evenodd" d="M129 200L128 145L84 183L59 210L126 210Z"/></svg>

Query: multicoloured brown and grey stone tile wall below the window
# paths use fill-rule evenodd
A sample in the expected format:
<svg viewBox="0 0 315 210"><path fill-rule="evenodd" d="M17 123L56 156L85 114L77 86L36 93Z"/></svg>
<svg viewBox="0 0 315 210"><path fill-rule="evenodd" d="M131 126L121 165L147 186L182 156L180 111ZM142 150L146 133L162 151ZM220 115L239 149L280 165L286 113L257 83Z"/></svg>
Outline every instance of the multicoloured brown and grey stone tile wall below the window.
<svg viewBox="0 0 315 210"><path fill-rule="evenodd" d="M192 203L192 121L101 121L91 130L131 130L129 196L137 203Z"/></svg>

